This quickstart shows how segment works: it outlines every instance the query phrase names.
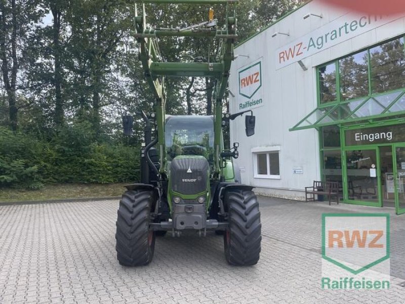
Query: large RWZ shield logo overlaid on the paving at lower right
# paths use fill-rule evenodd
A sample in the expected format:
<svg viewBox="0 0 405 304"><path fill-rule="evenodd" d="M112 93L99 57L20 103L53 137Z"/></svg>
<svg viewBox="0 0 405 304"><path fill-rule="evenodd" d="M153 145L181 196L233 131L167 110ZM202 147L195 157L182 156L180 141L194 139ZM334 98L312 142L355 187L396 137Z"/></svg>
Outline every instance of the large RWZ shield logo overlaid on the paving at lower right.
<svg viewBox="0 0 405 304"><path fill-rule="evenodd" d="M323 214L322 258L357 275L389 258L389 214Z"/></svg>

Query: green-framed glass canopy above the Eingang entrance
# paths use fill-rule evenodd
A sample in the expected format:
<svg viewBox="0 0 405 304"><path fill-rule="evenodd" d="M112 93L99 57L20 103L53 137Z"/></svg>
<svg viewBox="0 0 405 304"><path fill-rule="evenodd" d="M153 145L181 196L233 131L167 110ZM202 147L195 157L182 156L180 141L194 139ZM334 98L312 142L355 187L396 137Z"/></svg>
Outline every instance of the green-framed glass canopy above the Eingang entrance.
<svg viewBox="0 0 405 304"><path fill-rule="evenodd" d="M392 91L339 104L319 105L290 131L356 123L405 115L405 90Z"/></svg>

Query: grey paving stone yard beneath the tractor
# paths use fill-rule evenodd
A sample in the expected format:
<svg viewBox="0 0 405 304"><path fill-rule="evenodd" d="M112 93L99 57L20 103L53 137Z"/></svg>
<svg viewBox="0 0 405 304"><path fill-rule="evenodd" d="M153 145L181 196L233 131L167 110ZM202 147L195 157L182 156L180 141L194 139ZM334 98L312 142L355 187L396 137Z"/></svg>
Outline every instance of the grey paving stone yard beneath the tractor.
<svg viewBox="0 0 405 304"><path fill-rule="evenodd" d="M221 236L156 240L153 261L115 253L118 202L0 206L0 303L405 303L405 215L390 208L260 197L261 258L231 267ZM321 214L391 214L389 290L320 288Z"/></svg>

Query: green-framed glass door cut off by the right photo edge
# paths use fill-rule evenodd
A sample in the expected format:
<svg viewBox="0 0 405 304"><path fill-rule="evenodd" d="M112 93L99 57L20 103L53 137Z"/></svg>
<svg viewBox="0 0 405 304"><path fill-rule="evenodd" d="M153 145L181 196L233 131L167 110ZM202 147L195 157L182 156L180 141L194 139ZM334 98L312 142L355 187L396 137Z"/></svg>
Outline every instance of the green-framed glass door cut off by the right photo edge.
<svg viewBox="0 0 405 304"><path fill-rule="evenodd" d="M394 145L395 210L405 213L405 145Z"/></svg>

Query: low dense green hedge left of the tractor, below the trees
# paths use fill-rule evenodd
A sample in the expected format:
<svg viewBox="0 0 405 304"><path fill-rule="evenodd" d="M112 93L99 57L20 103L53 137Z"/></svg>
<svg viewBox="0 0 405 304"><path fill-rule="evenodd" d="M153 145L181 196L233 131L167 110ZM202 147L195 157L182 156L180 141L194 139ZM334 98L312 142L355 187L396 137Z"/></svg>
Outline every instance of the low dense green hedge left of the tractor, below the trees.
<svg viewBox="0 0 405 304"><path fill-rule="evenodd" d="M97 143L88 128L88 123L60 127L47 142L0 127L0 187L139 180L139 149Z"/></svg>

